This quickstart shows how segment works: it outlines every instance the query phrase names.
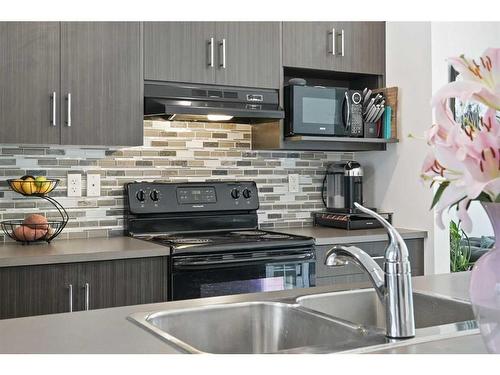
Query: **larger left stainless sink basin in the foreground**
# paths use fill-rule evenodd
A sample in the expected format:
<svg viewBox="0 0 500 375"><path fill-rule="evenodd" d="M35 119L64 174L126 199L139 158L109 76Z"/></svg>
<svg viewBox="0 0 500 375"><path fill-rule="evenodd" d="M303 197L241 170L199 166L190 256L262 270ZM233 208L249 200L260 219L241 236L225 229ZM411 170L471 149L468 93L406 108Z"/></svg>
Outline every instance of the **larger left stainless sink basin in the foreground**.
<svg viewBox="0 0 500 375"><path fill-rule="evenodd" d="M130 318L188 353L321 353L387 342L380 330L278 302L212 305Z"/></svg>

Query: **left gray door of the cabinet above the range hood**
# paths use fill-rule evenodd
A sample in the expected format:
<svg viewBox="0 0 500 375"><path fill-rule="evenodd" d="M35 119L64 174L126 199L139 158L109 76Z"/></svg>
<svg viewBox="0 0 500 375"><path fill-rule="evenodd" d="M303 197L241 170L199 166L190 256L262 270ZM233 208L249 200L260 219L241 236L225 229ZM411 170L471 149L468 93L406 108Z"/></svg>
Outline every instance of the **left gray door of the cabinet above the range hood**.
<svg viewBox="0 0 500 375"><path fill-rule="evenodd" d="M214 22L145 22L144 79L213 84L215 43Z"/></svg>

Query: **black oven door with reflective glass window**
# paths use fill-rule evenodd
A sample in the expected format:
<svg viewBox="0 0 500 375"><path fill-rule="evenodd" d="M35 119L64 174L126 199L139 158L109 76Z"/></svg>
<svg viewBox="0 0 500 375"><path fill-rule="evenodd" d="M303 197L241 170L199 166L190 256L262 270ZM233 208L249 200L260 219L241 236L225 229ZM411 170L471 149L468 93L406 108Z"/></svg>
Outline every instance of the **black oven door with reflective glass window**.
<svg viewBox="0 0 500 375"><path fill-rule="evenodd" d="M173 259L172 300L315 286L314 249Z"/></svg>

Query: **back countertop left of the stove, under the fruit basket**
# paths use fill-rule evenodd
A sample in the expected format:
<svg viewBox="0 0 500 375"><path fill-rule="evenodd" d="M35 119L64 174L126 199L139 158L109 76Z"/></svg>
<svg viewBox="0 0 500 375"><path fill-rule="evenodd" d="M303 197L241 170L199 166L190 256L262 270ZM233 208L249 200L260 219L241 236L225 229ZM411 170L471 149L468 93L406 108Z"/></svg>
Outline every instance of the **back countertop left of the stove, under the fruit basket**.
<svg viewBox="0 0 500 375"><path fill-rule="evenodd" d="M50 244L0 245L0 267L91 262L169 255L167 246L130 237L54 240Z"/></svg>

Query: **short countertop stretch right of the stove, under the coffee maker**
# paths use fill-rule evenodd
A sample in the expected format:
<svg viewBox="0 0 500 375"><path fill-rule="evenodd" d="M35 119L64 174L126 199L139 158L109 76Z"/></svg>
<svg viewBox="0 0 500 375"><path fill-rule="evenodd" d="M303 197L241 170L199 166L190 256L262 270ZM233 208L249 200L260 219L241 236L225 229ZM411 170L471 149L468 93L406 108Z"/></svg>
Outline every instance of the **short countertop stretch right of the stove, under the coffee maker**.
<svg viewBox="0 0 500 375"><path fill-rule="evenodd" d="M404 239L426 238L427 232L418 229L397 228ZM279 232L313 237L316 245L333 245L356 242L386 241L387 232L383 228L345 230L328 227L285 228Z"/></svg>

